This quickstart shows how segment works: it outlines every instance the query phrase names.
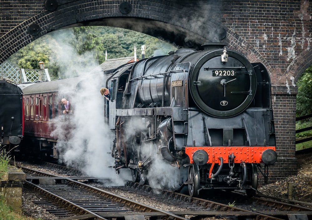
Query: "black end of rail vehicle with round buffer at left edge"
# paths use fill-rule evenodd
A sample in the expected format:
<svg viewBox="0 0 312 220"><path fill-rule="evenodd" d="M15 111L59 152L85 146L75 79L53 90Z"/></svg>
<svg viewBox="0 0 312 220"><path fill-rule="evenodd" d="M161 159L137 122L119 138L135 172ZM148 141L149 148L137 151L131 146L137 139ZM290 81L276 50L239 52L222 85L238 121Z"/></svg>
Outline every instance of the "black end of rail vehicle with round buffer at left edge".
<svg viewBox="0 0 312 220"><path fill-rule="evenodd" d="M18 150L23 138L23 115L22 90L13 82L0 80L0 146L6 152Z"/></svg>

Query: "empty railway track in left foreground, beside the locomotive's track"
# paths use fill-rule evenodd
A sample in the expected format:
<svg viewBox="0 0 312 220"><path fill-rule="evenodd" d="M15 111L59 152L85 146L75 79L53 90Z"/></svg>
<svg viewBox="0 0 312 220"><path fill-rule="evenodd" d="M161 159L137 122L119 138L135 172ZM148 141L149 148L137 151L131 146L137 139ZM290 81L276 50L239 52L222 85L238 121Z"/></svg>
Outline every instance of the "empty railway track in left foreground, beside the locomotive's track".
<svg viewBox="0 0 312 220"><path fill-rule="evenodd" d="M52 204L48 210L53 212L56 210L55 206L66 210L55 211L54 214L59 217L67 217L71 213L76 216L89 214L89 217L91 215L93 216L91 218L97 219L120 218L128 215L158 216L162 219L187 219L67 177L51 175L22 166L19 168L28 174L26 177L27 185L49 199L49 202L45 203L45 205ZM45 182L47 185L41 184L39 186L32 183L32 180L37 179L44 180L41 182ZM85 179L85 177L77 177L76 179ZM142 215L142 213L145 214Z"/></svg>

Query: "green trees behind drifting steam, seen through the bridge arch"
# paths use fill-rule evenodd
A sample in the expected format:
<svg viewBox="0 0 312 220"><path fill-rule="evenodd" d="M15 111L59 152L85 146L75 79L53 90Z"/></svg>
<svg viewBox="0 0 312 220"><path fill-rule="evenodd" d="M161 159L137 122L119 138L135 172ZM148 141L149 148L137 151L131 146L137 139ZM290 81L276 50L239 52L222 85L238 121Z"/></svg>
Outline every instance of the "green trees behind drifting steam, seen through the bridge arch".
<svg viewBox="0 0 312 220"><path fill-rule="evenodd" d="M168 54L177 48L157 38L136 31L106 27L81 26L53 31L33 41L13 54L8 61L24 69L39 69L39 61L49 69L51 80L81 75L107 59L134 56L141 59L141 45L146 45L145 57Z"/></svg>

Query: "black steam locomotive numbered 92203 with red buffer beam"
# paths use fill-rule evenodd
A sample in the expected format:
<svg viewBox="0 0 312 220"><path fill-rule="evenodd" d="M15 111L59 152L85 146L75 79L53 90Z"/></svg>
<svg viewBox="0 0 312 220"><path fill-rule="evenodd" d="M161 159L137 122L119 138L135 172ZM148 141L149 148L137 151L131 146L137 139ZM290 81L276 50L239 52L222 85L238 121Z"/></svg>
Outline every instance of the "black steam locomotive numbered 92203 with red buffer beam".
<svg viewBox="0 0 312 220"><path fill-rule="evenodd" d="M158 176L163 189L255 194L257 167L277 159L269 74L223 44L204 47L142 59L107 81L115 170L144 183L160 158L177 174Z"/></svg>

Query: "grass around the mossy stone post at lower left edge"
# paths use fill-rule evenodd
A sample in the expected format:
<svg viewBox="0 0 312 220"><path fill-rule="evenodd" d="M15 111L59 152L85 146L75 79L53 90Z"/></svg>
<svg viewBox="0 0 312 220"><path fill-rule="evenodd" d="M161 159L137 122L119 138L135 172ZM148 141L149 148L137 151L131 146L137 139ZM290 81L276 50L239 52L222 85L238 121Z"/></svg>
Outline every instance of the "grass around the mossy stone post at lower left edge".
<svg viewBox="0 0 312 220"><path fill-rule="evenodd" d="M6 152L0 145L0 180L3 180L3 178L7 175L7 170L9 165L11 157L9 152ZM7 204L4 202L4 195L0 193L0 219L5 220L35 220L34 218L20 215L19 213L13 212L12 208L7 206ZM41 218L38 218L36 220L41 220Z"/></svg>

